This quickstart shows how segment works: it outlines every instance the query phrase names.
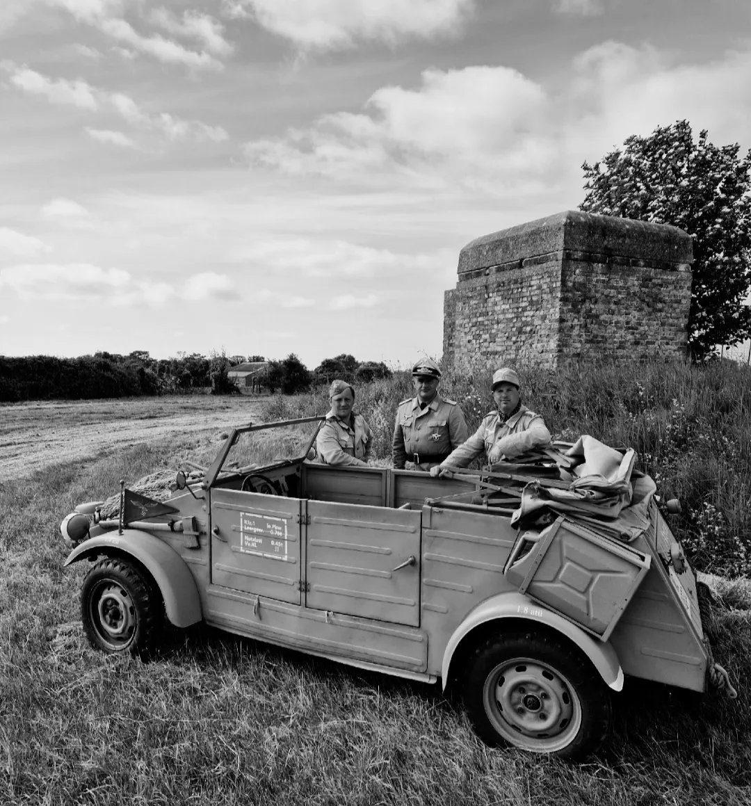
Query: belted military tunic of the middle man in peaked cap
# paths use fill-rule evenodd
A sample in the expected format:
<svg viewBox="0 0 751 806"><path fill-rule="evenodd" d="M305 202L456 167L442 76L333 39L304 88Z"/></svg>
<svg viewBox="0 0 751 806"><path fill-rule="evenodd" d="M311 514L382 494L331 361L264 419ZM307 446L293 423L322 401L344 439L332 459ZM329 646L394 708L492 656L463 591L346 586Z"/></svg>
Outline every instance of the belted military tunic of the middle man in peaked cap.
<svg viewBox="0 0 751 806"><path fill-rule="evenodd" d="M417 397L401 401L396 409L393 438L394 467L429 471L467 439L467 423L454 401L436 395L425 409Z"/></svg>

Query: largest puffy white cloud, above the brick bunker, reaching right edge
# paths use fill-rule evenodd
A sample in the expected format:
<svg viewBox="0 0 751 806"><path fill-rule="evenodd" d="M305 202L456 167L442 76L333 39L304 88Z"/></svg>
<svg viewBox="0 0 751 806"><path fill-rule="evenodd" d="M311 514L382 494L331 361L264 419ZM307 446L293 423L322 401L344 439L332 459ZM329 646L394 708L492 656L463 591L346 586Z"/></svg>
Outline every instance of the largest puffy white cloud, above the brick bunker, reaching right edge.
<svg viewBox="0 0 751 806"><path fill-rule="evenodd" d="M571 194L583 160L679 118L709 128L713 142L747 136L749 45L710 64L679 64L649 45L606 42L562 75L541 85L503 66L430 69L416 88L383 87L360 113L322 115L246 143L244 153L258 166L349 186L511 200Z"/></svg>

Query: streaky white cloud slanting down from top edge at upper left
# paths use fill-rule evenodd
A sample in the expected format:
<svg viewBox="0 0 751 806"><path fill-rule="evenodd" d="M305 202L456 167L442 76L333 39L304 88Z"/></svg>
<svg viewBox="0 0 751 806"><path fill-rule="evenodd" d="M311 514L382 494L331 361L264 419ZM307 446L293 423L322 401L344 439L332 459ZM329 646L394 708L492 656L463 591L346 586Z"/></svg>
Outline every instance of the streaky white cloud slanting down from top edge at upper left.
<svg viewBox="0 0 751 806"><path fill-rule="evenodd" d="M185 64L191 68L221 69L222 63L209 52L193 51L172 39L160 35L140 34L131 23L122 18L123 3L119 0L46 0L50 6L67 10L75 19L98 29L119 44L153 56L168 64ZM138 10L138 6L136 6ZM203 15L193 15L200 20ZM189 16L189 19L193 17ZM193 35L200 30L204 37L210 35L205 23L187 23L193 27ZM203 26L203 27L201 27ZM185 27L185 23L184 23Z"/></svg>

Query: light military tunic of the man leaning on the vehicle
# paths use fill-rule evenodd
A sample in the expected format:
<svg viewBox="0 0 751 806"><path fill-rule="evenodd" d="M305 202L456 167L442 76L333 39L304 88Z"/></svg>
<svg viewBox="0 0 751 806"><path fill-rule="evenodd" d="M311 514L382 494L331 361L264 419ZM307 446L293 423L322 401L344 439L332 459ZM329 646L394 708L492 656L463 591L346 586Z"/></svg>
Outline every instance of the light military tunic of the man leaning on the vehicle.
<svg viewBox="0 0 751 806"><path fill-rule="evenodd" d="M521 405L517 413L506 421L501 419L498 411L486 414L475 433L452 451L442 464L467 467L483 451L488 464L495 464L549 444L550 431L543 419Z"/></svg>

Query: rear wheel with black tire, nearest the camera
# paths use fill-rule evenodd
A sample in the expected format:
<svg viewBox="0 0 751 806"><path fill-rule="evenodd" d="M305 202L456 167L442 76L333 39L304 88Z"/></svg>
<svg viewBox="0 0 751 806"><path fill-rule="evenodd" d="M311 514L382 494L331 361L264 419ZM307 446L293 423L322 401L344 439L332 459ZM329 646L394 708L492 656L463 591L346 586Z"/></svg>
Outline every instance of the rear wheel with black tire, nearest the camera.
<svg viewBox="0 0 751 806"><path fill-rule="evenodd" d="M463 700L488 745L508 743L558 758L597 750L610 730L610 691L561 638L519 632L480 644L467 661Z"/></svg>

